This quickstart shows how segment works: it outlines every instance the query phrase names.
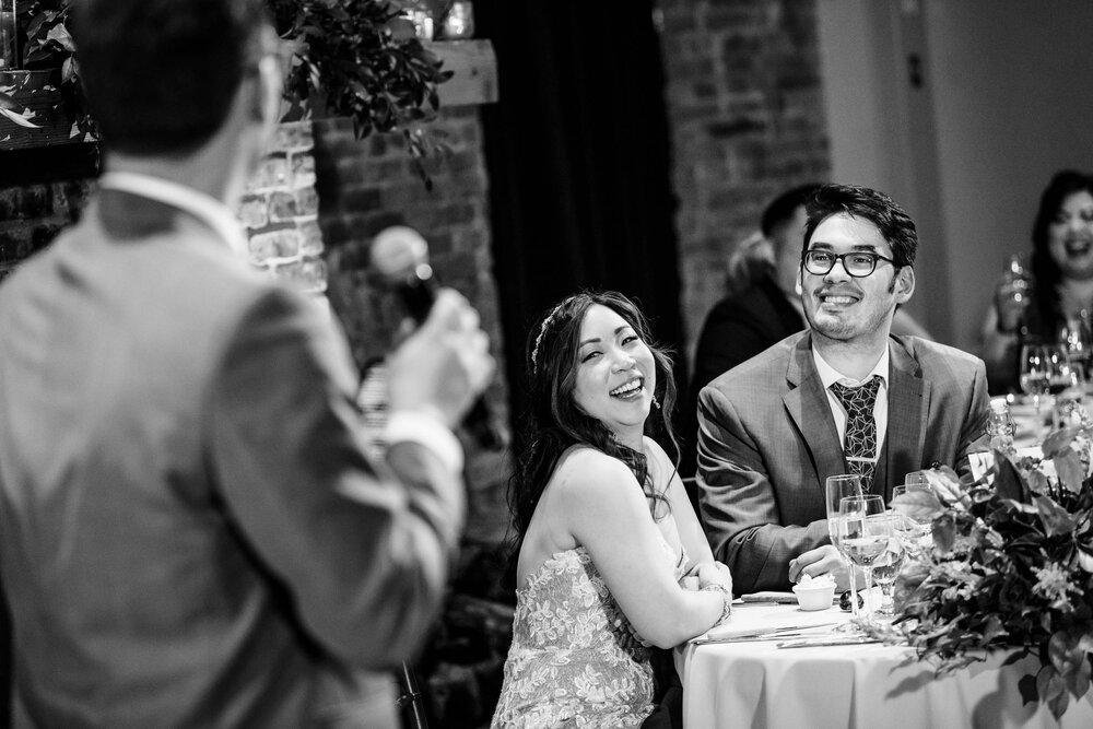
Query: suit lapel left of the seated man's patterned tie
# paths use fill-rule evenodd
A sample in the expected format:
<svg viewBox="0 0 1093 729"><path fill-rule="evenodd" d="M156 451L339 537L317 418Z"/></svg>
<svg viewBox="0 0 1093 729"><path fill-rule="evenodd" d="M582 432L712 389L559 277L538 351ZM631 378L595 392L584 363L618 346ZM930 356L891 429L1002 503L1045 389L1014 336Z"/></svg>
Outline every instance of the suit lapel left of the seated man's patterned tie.
<svg viewBox="0 0 1093 729"><path fill-rule="evenodd" d="M843 445L838 442L838 432L827 404L827 393L812 360L812 337L809 333L797 340L786 379L790 389L783 401L808 445L814 468L813 475L820 489L823 489L828 475L846 473L846 460L843 458Z"/></svg>

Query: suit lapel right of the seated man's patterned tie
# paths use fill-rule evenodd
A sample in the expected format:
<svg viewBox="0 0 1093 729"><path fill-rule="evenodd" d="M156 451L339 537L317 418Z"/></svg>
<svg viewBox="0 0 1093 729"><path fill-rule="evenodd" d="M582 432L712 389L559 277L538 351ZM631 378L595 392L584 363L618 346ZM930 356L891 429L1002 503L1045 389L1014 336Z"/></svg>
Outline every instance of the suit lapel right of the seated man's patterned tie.
<svg viewBox="0 0 1093 729"><path fill-rule="evenodd" d="M921 467L931 392L914 355L901 340L892 338L891 342L889 422L884 436L889 481Z"/></svg>

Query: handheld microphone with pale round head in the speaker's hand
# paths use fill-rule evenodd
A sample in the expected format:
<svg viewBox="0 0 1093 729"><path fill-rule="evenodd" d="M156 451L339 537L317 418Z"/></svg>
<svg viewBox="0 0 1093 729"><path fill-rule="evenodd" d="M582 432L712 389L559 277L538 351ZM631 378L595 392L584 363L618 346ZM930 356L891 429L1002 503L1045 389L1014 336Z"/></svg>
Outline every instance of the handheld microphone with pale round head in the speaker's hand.
<svg viewBox="0 0 1093 729"><path fill-rule="evenodd" d="M428 264L425 238L407 225L386 227L373 238L371 258L373 268L398 293L411 318L418 324L424 321L436 301L439 285ZM505 434L497 427L481 396L463 418L463 427L487 450L507 445Z"/></svg>

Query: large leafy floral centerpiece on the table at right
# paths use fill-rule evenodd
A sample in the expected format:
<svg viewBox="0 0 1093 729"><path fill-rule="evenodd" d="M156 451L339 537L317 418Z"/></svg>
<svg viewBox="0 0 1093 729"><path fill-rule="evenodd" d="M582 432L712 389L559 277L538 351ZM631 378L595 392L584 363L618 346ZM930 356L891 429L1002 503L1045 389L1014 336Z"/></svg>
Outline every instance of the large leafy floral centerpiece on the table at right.
<svg viewBox="0 0 1093 729"><path fill-rule="evenodd" d="M932 544L897 578L893 627L939 673L992 649L1013 650L1007 665L1037 657L1022 696L1058 718L1089 691L1093 668L1093 426L1057 431L1042 451L996 450L978 480L930 471L932 493L894 502L932 519Z"/></svg>

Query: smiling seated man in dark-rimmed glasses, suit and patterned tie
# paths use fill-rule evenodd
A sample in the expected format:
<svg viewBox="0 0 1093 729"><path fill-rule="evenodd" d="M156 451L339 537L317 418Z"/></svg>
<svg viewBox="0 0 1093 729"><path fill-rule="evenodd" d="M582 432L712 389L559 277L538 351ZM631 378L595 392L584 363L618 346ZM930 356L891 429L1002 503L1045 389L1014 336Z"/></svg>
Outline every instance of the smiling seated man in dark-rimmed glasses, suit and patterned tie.
<svg viewBox="0 0 1093 729"><path fill-rule="evenodd" d="M915 291L915 224L889 197L822 186L809 201L800 282L810 329L703 388L698 497L714 556L738 593L788 589L844 561L824 482L860 473L885 502L910 472L965 467L986 448L983 362L891 334Z"/></svg>

